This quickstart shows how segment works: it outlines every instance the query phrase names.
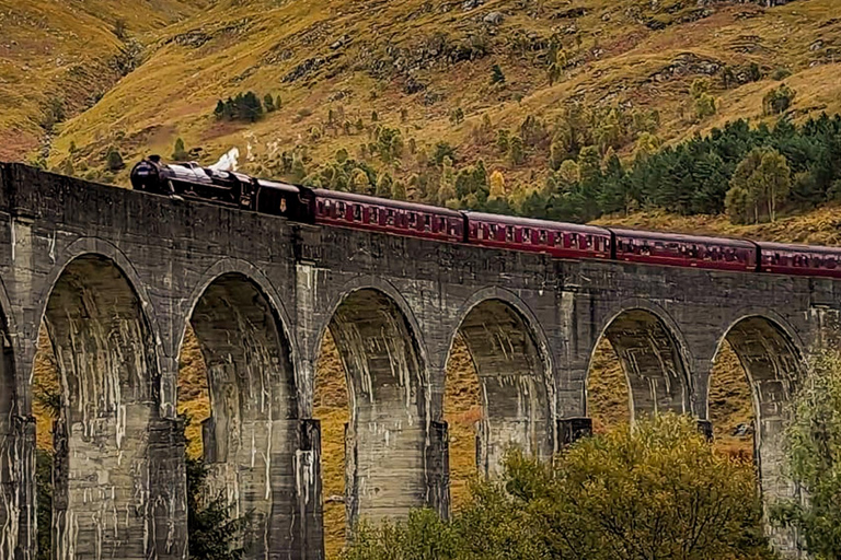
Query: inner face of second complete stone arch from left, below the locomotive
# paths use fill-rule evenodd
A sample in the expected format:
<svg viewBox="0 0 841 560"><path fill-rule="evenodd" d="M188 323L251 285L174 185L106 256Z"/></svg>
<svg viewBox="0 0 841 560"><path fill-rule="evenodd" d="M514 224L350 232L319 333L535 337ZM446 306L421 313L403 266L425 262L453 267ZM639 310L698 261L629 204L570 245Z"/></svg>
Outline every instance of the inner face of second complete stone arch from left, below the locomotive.
<svg viewBox="0 0 841 560"><path fill-rule="evenodd" d="M230 266L215 271L196 290L188 315L207 368L205 463L235 513L254 516L249 557L290 556L299 546L301 439L292 346L265 284Z"/></svg>

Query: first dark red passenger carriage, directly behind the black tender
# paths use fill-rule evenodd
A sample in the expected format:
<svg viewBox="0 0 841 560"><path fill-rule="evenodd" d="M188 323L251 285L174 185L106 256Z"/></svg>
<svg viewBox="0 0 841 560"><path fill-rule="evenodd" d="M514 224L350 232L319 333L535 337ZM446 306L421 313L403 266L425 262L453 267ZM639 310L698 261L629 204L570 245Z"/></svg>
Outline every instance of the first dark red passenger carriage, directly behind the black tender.
<svg viewBox="0 0 841 560"><path fill-rule="evenodd" d="M335 190L315 189L313 192L315 223L464 242L464 215L461 212Z"/></svg>

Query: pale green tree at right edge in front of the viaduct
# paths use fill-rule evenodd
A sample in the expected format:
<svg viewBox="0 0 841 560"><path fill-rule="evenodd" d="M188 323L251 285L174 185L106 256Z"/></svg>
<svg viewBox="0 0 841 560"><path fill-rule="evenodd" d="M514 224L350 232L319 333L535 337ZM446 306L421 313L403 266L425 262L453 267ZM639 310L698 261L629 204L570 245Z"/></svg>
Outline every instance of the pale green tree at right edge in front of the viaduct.
<svg viewBox="0 0 841 560"><path fill-rule="evenodd" d="M807 368L785 431L786 459L805 500L781 500L772 520L794 528L819 560L841 558L841 354L825 351Z"/></svg>

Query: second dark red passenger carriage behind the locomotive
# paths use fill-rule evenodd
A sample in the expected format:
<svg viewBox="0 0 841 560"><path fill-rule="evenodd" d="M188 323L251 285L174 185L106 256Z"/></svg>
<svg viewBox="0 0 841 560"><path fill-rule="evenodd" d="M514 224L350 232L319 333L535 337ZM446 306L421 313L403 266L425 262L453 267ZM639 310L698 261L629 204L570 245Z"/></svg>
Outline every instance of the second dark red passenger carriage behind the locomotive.
<svg viewBox="0 0 841 560"><path fill-rule="evenodd" d="M610 232L603 228L480 212L466 214L468 243L546 253L557 258L610 258Z"/></svg>

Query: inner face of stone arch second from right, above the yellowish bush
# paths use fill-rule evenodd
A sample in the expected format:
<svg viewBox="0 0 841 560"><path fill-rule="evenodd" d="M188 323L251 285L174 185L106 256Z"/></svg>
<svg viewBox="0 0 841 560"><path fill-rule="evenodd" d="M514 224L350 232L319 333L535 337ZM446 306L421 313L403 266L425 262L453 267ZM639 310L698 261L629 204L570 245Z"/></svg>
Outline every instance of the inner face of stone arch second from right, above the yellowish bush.
<svg viewBox="0 0 841 560"><path fill-rule="evenodd" d="M631 421L641 413L691 412L691 386L680 330L656 306L633 302L610 317L594 345L607 338L629 387ZM592 361L592 355L590 357Z"/></svg>

